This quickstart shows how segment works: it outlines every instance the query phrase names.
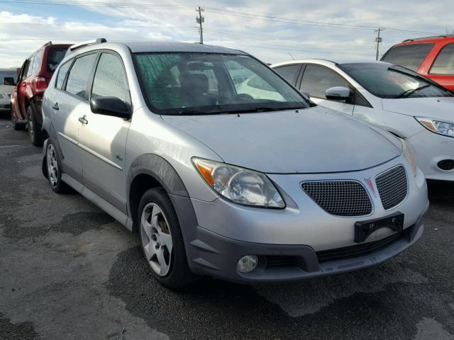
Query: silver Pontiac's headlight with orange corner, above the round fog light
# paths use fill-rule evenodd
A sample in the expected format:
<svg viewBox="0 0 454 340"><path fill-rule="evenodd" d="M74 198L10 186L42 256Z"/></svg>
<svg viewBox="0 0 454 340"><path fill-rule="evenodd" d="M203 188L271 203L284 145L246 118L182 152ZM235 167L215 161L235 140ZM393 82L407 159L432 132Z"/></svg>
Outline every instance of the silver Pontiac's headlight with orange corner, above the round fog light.
<svg viewBox="0 0 454 340"><path fill-rule="evenodd" d="M206 159L193 158L192 162L214 191L235 203L285 208L279 191L265 174Z"/></svg>

